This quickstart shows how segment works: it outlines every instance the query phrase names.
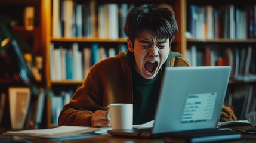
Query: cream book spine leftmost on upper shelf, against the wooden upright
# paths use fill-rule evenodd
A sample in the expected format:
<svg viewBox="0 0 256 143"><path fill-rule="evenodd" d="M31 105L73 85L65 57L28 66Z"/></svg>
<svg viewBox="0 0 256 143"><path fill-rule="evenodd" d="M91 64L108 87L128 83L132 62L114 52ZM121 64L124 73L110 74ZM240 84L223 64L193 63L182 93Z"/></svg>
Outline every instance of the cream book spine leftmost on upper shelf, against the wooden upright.
<svg viewBox="0 0 256 143"><path fill-rule="evenodd" d="M60 37L60 0L53 1L52 35L54 38Z"/></svg>

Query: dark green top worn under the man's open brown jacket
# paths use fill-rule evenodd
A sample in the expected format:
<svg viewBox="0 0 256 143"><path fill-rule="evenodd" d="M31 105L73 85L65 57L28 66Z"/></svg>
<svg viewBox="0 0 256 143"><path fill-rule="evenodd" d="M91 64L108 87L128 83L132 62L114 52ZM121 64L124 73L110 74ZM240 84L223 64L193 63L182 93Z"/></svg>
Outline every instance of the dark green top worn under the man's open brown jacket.
<svg viewBox="0 0 256 143"><path fill-rule="evenodd" d="M147 123L154 119L161 77L158 73L153 79L144 79L144 77L134 69L132 70L132 74L133 124Z"/></svg>

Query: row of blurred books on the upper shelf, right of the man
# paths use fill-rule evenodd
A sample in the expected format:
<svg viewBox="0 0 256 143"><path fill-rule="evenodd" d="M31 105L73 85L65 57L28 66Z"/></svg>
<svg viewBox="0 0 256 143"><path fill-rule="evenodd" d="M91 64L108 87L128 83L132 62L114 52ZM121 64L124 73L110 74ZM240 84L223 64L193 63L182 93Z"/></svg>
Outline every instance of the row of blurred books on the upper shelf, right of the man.
<svg viewBox="0 0 256 143"><path fill-rule="evenodd" d="M189 37L197 39L256 38L256 5L245 8L233 4L190 5L188 33Z"/></svg>

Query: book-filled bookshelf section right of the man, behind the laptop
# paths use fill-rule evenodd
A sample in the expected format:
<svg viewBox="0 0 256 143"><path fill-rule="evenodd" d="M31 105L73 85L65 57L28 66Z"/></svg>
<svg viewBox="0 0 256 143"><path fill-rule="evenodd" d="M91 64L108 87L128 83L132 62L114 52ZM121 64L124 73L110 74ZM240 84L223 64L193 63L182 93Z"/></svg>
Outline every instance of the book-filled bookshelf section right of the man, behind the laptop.
<svg viewBox="0 0 256 143"><path fill-rule="evenodd" d="M238 119L255 96L255 1L186 1L186 58L193 66L230 65L225 104ZM198 34L199 33L199 34ZM253 100L251 98L251 100Z"/></svg>

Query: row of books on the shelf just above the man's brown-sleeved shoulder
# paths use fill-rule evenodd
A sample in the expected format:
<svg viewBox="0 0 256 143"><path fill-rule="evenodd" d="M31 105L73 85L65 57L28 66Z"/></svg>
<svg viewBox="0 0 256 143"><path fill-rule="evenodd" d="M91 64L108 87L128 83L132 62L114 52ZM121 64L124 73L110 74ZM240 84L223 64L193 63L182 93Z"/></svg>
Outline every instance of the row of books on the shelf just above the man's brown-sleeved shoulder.
<svg viewBox="0 0 256 143"><path fill-rule="evenodd" d="M51 43L51 80L83 80L95 63L126 50L124 43L116 48L106 48L98 43L92 43L91 47L79 47L78 43L73 43L70 48L63 48Z"/></svg>

